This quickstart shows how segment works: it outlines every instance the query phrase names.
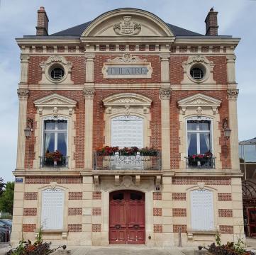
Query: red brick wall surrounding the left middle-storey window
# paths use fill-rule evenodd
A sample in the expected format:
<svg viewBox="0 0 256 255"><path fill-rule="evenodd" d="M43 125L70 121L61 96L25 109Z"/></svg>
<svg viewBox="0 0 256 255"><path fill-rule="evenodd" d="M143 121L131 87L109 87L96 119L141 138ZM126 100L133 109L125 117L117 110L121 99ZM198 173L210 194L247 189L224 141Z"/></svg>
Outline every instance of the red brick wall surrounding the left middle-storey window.
<svg viewBox="0 0 256 255"><path fill-rule="evenodd" d="M77 168L84 167L84 96L82 91L30 91L30 96L28 97L27 106L27 116L34 120L33 128L37 127L38 123L35 122L36 108L34 106L34 101L49 96L51 94L60 94L61 96L66 96L74 101L77 101L77 107L74 110L76 114L76 137L74 137L74 145L76 152L74 154L74 159L76 161ZM32 132L30 139L26 139L26 152L25 152L25 167L32 168L33 160L35 159L35 132ZM70 155L68 155L70 156Z"/></svg>

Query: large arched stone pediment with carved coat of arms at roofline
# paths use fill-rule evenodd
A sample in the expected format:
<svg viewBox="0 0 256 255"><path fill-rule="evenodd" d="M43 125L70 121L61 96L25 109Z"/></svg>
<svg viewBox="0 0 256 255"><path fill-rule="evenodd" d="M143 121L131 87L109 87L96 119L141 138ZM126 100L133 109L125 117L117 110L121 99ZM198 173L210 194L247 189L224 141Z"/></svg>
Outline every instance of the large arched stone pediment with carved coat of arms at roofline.
<svg viewBox="0 0 256 255"><path fill-rule="evenodd" d="M174 36L164 21L148 11L123 8L96 18L82 33L85 36Z"/></svg>

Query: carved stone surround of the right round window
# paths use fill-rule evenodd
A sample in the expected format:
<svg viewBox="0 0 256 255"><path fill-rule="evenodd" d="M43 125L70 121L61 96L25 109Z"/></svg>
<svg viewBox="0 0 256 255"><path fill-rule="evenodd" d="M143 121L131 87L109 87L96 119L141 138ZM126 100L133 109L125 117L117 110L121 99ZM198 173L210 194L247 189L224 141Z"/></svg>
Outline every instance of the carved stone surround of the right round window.
<svg viewBox="0 0 256 255"><path fill-rule="evenodd" d="M203 79L194 79L190 75L190 69L194 65L201 65L204 67L205 72L204 72L204 77ZM187 61L182 63L183 67L183 73L184 73L184 78L181 84L191 84L197 83L197 84L216 84L216 81L213 80L213 67L215 64L213 64L212 61L209 61L206 57L201 56L201 55L196 55L196 56L190 56Z"/></svg>

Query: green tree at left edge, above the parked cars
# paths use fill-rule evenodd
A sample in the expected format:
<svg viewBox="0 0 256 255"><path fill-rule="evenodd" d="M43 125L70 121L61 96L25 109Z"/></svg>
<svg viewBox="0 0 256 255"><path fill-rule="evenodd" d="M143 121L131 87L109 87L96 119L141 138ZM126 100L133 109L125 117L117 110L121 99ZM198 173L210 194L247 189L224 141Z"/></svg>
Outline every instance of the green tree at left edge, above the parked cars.
<svg viewBox="0 0 256 255"><path fill-rule="evenodd" d="M8 181L0 196L0 211L13 214L14 182Z"/></svg>

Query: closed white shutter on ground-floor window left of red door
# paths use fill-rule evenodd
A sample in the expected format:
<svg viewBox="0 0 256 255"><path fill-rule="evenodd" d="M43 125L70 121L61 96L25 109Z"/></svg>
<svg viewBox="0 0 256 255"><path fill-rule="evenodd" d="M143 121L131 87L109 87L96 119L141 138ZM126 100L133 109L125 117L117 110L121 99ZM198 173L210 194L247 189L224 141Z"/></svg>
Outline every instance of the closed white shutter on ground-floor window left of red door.
<svg viewBox="0 0 256 255"><path fill-rule="evenodd" d="M63 229L64 191L47 189L42 192L41 225L43 229Z"/></svg>

